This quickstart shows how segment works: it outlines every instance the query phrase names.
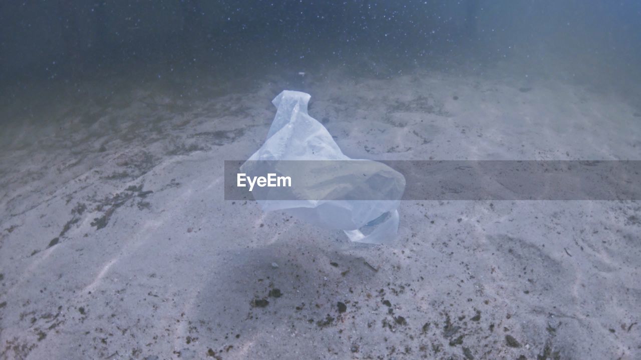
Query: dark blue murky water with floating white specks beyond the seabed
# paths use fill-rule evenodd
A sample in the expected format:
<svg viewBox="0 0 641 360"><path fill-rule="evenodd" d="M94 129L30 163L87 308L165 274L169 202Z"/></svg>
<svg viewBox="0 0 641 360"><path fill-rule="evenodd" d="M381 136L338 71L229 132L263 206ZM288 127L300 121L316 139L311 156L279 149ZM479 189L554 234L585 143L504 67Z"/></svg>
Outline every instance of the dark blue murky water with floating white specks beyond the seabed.
<svg viewBox="0 0 641 360"><path fill-rule="evenodd" d="M640 17L633 0L5 0L0 82L18 92L105 74L258 79L336 67L388 77L508 61L629 95L641 80Z"/></svg>

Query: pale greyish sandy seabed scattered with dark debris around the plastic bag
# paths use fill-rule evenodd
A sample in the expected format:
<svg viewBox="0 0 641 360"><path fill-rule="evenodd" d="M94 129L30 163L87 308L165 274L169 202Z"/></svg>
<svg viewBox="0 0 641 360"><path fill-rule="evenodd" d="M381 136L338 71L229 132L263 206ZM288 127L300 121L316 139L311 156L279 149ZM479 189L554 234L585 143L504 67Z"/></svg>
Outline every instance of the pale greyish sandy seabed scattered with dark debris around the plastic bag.
<svg viewBox="0 0 641 360"><path fill-rule="evenodd" d="M615 95L489 78L130 84L16 119L0 357L641 358L638 202L404 201L397 240L365 246L223 199L285 86L352 158L641 160L641 110Z"/></svg>

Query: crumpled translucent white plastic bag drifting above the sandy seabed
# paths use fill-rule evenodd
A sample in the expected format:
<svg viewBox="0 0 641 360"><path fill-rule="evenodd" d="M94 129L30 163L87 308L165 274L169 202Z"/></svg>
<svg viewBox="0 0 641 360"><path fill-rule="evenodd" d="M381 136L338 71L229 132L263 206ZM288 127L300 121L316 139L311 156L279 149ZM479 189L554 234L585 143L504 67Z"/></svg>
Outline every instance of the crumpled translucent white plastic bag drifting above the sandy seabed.
<svg viewBox="0 0 641 360"><path fill-rule="evenodd" d="M296 199L270 198L269 193L254 197L263 211L285 211L320 227L343 230L351 241L394 240L405 178L383 163L345 156L329 131L308 115L310 97L289 90L276 96L272 104L278 110L265 143L240 167L256 172L265 160L279 174L304 179L288 190Z"/></svg>

